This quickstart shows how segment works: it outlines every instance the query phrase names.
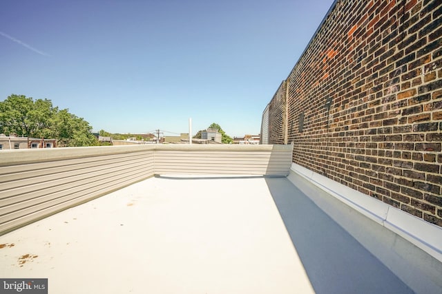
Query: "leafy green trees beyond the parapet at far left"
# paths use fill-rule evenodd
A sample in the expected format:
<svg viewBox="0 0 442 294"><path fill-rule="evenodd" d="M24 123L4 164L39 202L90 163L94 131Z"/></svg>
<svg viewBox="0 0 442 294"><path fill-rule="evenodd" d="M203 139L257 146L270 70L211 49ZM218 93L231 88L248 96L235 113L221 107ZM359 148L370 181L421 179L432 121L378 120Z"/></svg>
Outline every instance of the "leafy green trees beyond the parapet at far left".
<svg viewBox="0 0 442 294"><path fill-rule="evenodd" d="M59 146L97 145L92 127L83 118L59 110L48 99L12 94L0 102L0 133L30 138L55 138Z"/></svg>

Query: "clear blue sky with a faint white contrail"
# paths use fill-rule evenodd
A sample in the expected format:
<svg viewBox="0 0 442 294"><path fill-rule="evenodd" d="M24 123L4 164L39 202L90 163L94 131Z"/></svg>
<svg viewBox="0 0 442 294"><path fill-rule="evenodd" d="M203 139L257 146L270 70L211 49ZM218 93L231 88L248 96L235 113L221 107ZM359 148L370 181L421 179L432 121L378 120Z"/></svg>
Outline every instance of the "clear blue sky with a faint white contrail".
<svg viewBox="0 0 442 294"><path fill-rule="evenodd" d="M48 98L95 131L258 134L333 2L2 0L0 101Z"/></svg>

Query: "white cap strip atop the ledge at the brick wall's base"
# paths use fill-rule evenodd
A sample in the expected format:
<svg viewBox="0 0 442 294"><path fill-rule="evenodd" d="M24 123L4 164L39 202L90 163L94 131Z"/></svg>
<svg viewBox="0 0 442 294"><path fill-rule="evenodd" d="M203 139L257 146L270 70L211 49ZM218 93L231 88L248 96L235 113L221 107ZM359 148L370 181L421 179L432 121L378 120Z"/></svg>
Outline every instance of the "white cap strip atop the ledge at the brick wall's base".
<svg viewBox="0 0 442 294"><path fill-rule="evenodd" d="M291 171L442 262L442 228L295 163Z"/></svg>

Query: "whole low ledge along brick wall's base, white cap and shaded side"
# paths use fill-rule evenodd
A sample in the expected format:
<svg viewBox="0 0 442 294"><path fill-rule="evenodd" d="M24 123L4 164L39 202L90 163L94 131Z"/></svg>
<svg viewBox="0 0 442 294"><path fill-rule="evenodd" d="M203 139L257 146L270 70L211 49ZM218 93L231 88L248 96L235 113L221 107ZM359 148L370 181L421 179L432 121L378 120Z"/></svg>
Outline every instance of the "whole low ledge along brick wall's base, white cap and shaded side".
<svg viewBox="0 0 442 294"><path fill-rule="evenodd" d="M415 293L442 293L442 229L292 165L287 177Z"/></svg>

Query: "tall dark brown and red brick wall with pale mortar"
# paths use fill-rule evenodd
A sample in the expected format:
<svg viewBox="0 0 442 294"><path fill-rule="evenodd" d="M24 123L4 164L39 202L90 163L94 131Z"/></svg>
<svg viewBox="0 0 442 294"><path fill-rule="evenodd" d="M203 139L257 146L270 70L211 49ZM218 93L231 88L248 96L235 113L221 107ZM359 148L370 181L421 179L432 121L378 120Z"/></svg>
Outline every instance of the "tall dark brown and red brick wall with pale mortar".
<svg viewBox="0 0 442 294"><path fill-rule="evenodd" d="M336 1L286 81L269 143L442 227L442 1Z"/></svg>

